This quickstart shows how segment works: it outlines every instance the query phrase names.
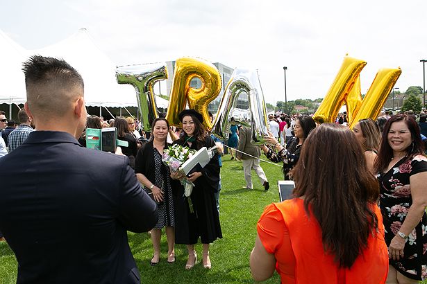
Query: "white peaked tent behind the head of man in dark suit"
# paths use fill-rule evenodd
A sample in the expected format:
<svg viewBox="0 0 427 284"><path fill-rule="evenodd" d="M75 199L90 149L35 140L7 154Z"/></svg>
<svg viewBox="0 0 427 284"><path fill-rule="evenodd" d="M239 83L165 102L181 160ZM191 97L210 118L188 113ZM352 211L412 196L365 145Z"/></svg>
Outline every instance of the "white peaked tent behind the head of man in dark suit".
<svg viewBox="0 0 427 284"><path fill-rule="evenodd" d="M115 64L95 46L84 28L62 42L37 50L25 50L0 31L0 103L26 101L22 62L36 54L63 58L81 73L86 105L137 107L135 88L117 83Z"/></svg>

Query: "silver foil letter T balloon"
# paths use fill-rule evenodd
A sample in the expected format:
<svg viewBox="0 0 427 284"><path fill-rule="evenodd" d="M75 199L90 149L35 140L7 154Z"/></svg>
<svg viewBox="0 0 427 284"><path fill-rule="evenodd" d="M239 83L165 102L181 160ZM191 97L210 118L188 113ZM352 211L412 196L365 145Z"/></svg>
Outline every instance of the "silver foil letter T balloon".
<svg viewBox="0 0 427 284"><path fill-rule="evenodd" d="M119 66L116 70L119 84L131 84L137 93L137 104L145 131L151 130L151 123L158 118L153 85L167 79L167 68L162 63Z"/></svg>

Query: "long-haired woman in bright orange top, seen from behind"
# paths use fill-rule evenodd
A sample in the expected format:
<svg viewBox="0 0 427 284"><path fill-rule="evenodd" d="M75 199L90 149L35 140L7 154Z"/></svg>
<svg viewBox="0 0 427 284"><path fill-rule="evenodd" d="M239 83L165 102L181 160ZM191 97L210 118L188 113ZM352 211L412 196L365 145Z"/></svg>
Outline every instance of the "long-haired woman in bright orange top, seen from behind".
<svg viewBox="0 0 427 284"><path fill-rule="evenodd" d="M378 183L353 141L351 130L333 123L310 133L294 168L294 199L267 206L258 221L256 281L276 269L282 283L385 283Z"/></svg>

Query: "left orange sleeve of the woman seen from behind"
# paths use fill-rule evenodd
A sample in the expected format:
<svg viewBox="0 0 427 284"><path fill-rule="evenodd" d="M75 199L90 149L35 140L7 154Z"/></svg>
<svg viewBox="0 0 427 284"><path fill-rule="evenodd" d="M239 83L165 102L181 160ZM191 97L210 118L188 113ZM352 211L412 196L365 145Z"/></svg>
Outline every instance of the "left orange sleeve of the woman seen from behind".
<svg viewBox="0 0 427 284"><path fill-rule="evenodd" d="M257 224L258 236L269 254L275 254L283 243L287 227L281 211L274 204L265 207Z"/></svg>

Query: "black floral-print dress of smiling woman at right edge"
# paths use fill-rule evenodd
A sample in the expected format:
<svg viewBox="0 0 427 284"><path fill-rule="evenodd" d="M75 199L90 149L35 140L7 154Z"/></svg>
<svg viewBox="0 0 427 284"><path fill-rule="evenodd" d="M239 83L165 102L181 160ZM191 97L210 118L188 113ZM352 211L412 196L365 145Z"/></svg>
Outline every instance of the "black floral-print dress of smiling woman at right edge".
<svg viewBox="0 0 427 284"><path fill-rule="evenodd" d="M378 175L380 182L380 209L385 227L387 247L405 221L412 205L410 176L427 171L427 158L417 155L413 159L401 159L388 172ZM408 278L427 278L427 215L424 213L417 227L409 234L403 249L403 258L390 259L401 274Z"/></svg>

